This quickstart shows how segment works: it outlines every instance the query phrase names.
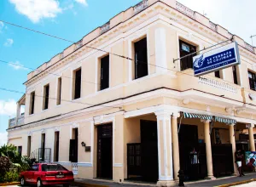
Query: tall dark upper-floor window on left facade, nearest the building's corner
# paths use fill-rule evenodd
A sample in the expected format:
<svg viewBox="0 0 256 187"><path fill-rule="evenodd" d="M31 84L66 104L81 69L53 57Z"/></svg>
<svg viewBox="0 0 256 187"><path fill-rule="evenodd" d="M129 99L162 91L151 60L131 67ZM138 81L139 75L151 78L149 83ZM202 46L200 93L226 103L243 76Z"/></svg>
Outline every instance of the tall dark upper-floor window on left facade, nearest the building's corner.
<svg viewBox="0 0 256 187"><path fill-rule="evenodd" d="M135 79L148 76L147 37L134 43L134 77Z"/></svg>

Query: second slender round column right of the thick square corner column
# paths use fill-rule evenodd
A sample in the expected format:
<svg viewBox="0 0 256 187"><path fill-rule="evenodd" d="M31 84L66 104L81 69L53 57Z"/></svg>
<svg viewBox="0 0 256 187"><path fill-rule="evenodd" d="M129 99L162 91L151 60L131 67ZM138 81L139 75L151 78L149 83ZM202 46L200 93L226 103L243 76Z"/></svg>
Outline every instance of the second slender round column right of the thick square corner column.
<svg viewBox="0 0 256 187"><path fill-rule="evenodd" d="M206 150L207 150L207 178L216 179L213 176L213 169L212 169L212 144L211 144L211 137L210 137L210 121L204 120L204 128L205 128L205 142L206 142Z"/></svg>

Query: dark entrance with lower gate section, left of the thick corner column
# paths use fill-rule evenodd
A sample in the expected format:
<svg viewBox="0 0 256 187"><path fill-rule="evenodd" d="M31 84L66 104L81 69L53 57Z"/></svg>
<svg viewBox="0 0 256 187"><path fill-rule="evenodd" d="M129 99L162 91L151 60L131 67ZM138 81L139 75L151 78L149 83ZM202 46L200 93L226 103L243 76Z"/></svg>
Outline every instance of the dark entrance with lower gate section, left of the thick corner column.
<svg viewBox="0 0 256 187"><path fill-rule="evenodd" d="M141 143L127 144L128 179L158 180L157 122L140 121Z"/></svg>

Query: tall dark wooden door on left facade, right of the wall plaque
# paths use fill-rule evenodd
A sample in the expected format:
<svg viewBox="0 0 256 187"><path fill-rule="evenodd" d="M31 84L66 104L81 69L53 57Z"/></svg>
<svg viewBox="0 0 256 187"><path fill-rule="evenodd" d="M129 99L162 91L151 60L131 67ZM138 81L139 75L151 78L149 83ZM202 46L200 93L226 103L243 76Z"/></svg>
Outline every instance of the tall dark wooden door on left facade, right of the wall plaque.
<svg viewBox="0 0 256 187"><path fill-rule="evenodd" d="M97 178L113 178L112 124L97 127Z"/></svg>

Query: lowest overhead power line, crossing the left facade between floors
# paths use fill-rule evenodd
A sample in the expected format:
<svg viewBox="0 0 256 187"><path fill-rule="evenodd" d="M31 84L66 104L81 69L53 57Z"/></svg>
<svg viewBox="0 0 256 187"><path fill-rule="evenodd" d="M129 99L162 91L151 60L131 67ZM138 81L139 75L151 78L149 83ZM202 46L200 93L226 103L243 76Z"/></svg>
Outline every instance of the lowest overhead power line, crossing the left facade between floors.
<svg viewBox="0 0 256 187"><path fill-rule="evenodd" d="M26 93L24 93L24 92L20 92L20 91L18 91L18 90L8 89L8 88L0 88L0 90L6 91L6 92L15 93L15 94L26 94ZM26 94L26 95L30 95L30 94ZM82 102L72 101L72 100L66 100L66 99L56 99L56 98L45 97L45 96L37 95L37 94L35 94L35 96L36 96L36 97L40 97L40 98L44 98L44 99L45 99L45 98L48 98L48 99L54 99L54 100L61 100L61 101L65 101L65 102L69 102L69 103L73 103L73 104L97 106L97 104L82 103ZM103 107L106 107L106 108L115 108L115 109L121 110L121 107L108 106L108 105L102 105L102 106L103 106Z"/></svg>

